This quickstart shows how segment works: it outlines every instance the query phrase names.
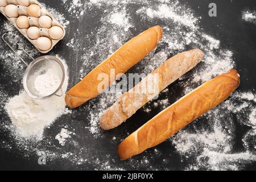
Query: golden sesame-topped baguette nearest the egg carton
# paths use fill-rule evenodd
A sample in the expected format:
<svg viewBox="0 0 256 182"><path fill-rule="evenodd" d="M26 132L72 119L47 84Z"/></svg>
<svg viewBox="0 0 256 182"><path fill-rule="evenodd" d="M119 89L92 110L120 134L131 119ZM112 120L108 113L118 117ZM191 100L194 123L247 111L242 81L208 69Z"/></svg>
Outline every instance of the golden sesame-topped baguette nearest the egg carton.
<svg viewBox="0 0 256 182"><path fill-rule="evenodd" d="M98 96L100 94L98 85L102 82L98 80L98 75L105 73L110 77L111 69L115 70L115 76L127 72L150 51L155 49L160 39L162 39L162 28L160 26L151 27L135 36L93 69L79 84L69 90L65 96L66 104L75 108ZM109 79L108 86L112 82L114 80Z"/></svg>

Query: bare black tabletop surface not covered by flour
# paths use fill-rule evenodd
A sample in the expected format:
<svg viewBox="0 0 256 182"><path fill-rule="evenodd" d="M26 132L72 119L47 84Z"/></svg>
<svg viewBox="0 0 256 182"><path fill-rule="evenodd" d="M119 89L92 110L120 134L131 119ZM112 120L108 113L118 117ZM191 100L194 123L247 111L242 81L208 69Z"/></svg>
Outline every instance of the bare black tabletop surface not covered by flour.
<svg viewBox="0 0 256 182"><path fill-rule="evenodd" d="M59 11L60 13L67 13L63 8L63 4L61 4L60 0L57 1L50 1L44 0L42 1L48 5L48 7L52 7ZM243 0L243 1L223 1L223 0L215 0L215 1L202 1L202 0L193 0L193 1L180 1L181 3L185 3L191 7L193 11L195 11L196 16L201 16L200 26L204 28L205 32L209 35L214 35L218 40L221 41L222 46L228 47L233 53L237 65L237 70L240 72L241 75L241 85L238 88L241 91L253 90L255 89L255 66L256 66L256 24L243 22L241 18L241 12L245 9L255 10L256 9L256 1L254 0ZM215 2L217 4L217 17L210 18L208 15L208 5L211 2ZM100 13L98 13L100 14ZM77 68L75 66L72 67L72 57L74 57L74 52L71 49L68 49L65 45L70 40L69 37L72 37L73 32L76 32L77 27L84 26L84 28L90 28L88 24L93 25L93 18L97 18L97 14L94 14L94 17L90 19L90 16L86 17L84 20L84 24L79 24L79 21L76 18L69 17L67 15L67 19L71 22L69 27L69 32L66 35L67 39L64 39L60 43L58 43L55 48L53 48L51 55L59 54L64 57L65 60L68 61L70 74L72 72L76 72ZM6 18L0 14L0 26L5 23L7 20ZM138 25L139 26L139 25ZM150 26L150 25L149 25ZM142 27L141 29L146 29L147 27ZM89 32L89 31L88 31ZM0 30L2 34L3 31ZM134 32L138 34L139 32ZM2 42L0 43L0 53L4 50L9 49L5 44ZM76 52L77 53L77 52ZM82 52L81 52L82 53ZM10 83L8 75L5 74L5 70L1 65L0 60L0 85L4 87L4 89L10 93L10 96L15 96L19 93L20 84L15 84L15 82ZM72 69L74 68L74 69ZM75 84L77 80L71 77L69 82L69 87ZM179 91L179 90L177 90ZM176 98L174 98L176 100ZM126 131L134 131L138 126L141 126L143 123L148 121L148 119L154 117L157 113L150 113L148 116L144 116L141 111L138 111L131 120L137 121L137 123L133 126L127 125L126 123L123 127ZM0 113L0 117L4 117L5 113ZM72 118L62 118L64 123L69 123L74 126L74 128L79 129L80 126L86 126L84 119L81 117L79 118L76 115L73 115ZM72 120L72 121L71 121ZM139 121L139 122L138 122ZM130 121L132 122L132 121ZM54 125L53 125L54 127ZM53 129L54 130L54 129ZM239 132L240 130L238 130ZM53 132L53 131L51 131ZM88 139L86 142L92 142L92 147L95 147L94 150L98 150L100 154L102 154L102 158L105 158L105 150L113 151L113 158L117 159L117 152L116 148L117 145L113 145L112 143L106 142L108 137L113 137L114 134L122 133L122 129L113 130L110 132L104 132L103 134L106 135L104 140L90 140ZM242 129L241 129L242 132ZM81 133L84 137L89 136L89 134ZM241 135L237 133L238 138ZM8 137L8 133L0 133L0 141L8 142L11 140ZM103 146L104 145L104 146ZM98 147L96 147L98 146ZM237 144L237 151L240 150L241 147ZM158 146L158 149L162 151L162 155L170 155L170 144L164 142ZM72 148L71 148L72 150ZM29 158L24 157L24 154L19 154L18 148L13 148L13 150L5 150L0 148L0 169L95 169L92 165L84 165L84 166L76 166L75 164L69 163L68 161L53 161L48 163L46 166L39 166L37 163L38 156L30 156ZM172 154L175 155L175 154ZM143 156L140 155L136 159L141 159ZM164 157L163 157L164 158ZM179 156L176 158L172 158L176 160L172 160L168 164L161 164L160 159L154 160L151 162L152 166L158 166L159 169L184 169L185 164L180 162ZM129 163L124 163L123 168L125 169L134 169L133 166L129 166ZM139 169L150 169L150 168L143 168L140 167ZM245 169L254 169L256 170L256 164L247 164Z"/></svg>

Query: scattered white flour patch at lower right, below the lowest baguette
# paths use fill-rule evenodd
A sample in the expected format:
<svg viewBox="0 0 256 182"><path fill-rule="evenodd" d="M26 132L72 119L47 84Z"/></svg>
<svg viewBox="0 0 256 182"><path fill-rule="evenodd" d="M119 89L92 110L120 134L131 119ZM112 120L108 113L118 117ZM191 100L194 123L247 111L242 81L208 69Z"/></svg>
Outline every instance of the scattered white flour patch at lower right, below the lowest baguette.
<svg viewBox="0 0 256 182"><path fill-rule="evenodd" d="M203 127L193 125L170 139L181 156L192 160L187 169L239 170L256 161L256 146L251 141L256 136L255 96L252 98L252 94L235 92L229 100L204 115ZM235 121L251 127L242 139L244 152L233 151Z"/></svg>

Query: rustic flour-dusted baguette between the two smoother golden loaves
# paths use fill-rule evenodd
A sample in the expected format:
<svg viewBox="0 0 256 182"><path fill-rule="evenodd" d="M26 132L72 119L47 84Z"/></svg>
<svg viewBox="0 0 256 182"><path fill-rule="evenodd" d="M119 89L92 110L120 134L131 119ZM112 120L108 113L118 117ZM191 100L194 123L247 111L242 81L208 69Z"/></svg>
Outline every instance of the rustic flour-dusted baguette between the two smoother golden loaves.
<svg viewBox="0 0 256 182"><path fill-rule="evenodd" d="M152 100L165 89L172 82L179 77L190 71L195 67L202 59L204 53L199 49L193 49L191 51L179 53L178 55L171 57L165 63L160 65L154 72L144 78L138 85L129 92L123 94L113 106L111 106L102 115L100 120L101 128L104 130L113 129L118 125L121 125L131 115L135 114L143 105ZM158 92L151 92L154 85L148 85L146 82L154 79L154 75L158 74ZM138 93L136 90L146 86L147 92Z"/></svg>

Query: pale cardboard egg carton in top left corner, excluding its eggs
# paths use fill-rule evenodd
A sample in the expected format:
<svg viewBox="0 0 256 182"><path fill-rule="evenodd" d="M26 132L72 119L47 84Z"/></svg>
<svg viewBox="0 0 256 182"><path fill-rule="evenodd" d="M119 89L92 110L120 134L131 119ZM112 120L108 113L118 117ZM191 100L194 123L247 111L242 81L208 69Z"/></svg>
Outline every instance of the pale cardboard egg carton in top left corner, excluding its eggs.
<svg viewBox="0 0 256 182"><path fill-rule="evenodd" d="M2 2L1 2L1 1L2 1ZM42 27L40 27L39 22L38 22L39 18L32 17L32 16L28 16L28 14L27 14L27 6L21 6L21 5L19 5L19 3L18 3L17 0L0 0L0 6L1 6L1 4L4 5L5 3L6 3L7 5L10 5L10 4L11 4L11 5L16 5L16 7L18 8L19 16L22 16L22 15L28 16L28 22L29 22L29 24L30 24L30 27L32 27L32 26L38 27L38 28L39 28L40 37L47 37L47 38L49 38L49 39L51 40L52 46L51 46L51 48L49 48L49 49L46 50L46 51L41 50L41 49L36 45L36 40L32 40L32 39L30 39L30 38L28 37L28 35L27 35L27 30L28 30L28 28L23 28L23 29L21 29L21 28L19 28L19 27L17 26L16 20L18 19L18 17L17 17L17 18L9 18L9 17L5 14L5 7L6 7L6 6L0 7L0 11L1 11L1 13L2 13L8 20L10 20L11 23L13 23L13 25L19 30L20 33L21 33L22 35L24 35L24 36L38 49L39 52L47 53L47 52L51 51L52 48L53 48L60 40L62 40L62 39L64 38L64 36L65 36L65 28L64 28L64 26L62 26L62 25L60 24L60 22L59 22L53 15L50 14L50 13L46 10L46 8L45 8L42 4L40 4L37 0L29 0L29 2L30 2L30 5L38 5L38 6L41 8L40 16L47 15L47 16L49 16L49 17L52 19L52 27L53 27L53 26L58 26L58 27L62 28L62 30L63 30L63 36L62 36L60 39L57 39L57 40L52 39L51 36L49 36L49 29L50 29L50 28L42 28Z"/></svg>

